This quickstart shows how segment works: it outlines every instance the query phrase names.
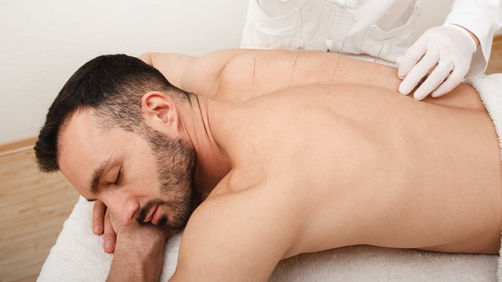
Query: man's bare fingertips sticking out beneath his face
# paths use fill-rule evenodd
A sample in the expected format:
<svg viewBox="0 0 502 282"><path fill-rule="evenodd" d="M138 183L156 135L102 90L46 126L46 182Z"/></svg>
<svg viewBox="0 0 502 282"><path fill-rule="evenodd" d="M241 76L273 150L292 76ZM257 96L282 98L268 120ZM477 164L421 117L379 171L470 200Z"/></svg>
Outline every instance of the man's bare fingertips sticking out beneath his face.
<svg viewBox="0 0 502 282"><path fill-rule="evenodd" d="M112 253L115 251L117 235L110 222L110 215L106 205L99 200L94 202L92 208L92 230L96 235L104 234L103 249L105 252Z"/></svg>

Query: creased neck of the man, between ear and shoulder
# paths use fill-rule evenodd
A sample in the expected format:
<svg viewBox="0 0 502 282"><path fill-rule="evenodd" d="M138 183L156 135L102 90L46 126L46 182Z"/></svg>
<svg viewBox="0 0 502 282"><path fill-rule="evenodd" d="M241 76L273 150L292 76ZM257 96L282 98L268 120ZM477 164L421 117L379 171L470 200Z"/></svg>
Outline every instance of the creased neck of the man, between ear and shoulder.
<svg viewBox="0 0 502 282"><path fill-rule="evenodd" d="M216 143L209 126L209 98L193 95L182 108L182 129L190 139L197 156L194 182L198 193L209 193L228 174L230 161Z"/></svg>

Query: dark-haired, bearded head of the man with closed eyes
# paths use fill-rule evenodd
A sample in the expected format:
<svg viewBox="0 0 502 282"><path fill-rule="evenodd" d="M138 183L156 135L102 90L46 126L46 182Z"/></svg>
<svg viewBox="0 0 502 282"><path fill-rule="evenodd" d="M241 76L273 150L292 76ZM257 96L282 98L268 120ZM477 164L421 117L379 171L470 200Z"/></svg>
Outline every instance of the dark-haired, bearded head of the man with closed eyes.
<svg viewBox="0 0 502 282"><path fill-rule="evenodd" d="M195 151L180 112L191 96L137 58L99 56L49 108L35 145L39 168L61 170L122 225L136 218L182 228L194 201Z"/></svg>

